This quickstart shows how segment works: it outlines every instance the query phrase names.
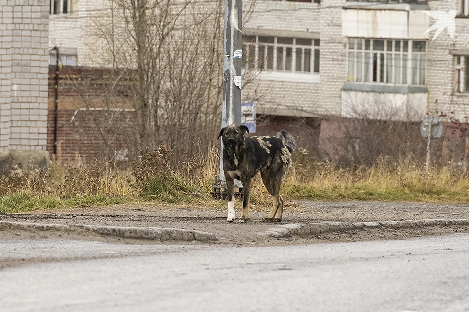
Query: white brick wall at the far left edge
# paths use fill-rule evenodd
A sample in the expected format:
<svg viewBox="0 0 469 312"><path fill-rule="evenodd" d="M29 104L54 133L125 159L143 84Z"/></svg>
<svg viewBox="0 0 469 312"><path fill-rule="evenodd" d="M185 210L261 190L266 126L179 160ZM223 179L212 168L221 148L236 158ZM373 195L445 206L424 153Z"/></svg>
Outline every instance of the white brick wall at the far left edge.
<svg viewBox="0 0 469 312"><path fill-rule="evenodd" d="M0 0L0 12L0 151L45 150L31 138L47 134L49 2Z"/></svg>

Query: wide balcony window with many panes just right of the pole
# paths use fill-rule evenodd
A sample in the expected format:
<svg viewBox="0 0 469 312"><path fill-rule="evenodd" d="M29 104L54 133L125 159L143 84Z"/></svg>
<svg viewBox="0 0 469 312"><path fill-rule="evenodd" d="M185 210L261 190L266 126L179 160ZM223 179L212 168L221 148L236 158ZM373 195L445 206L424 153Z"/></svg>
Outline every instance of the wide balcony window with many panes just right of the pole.
<svg viewBox="0 0 469 312"><path fill-rule="evenodd" d="M243 36L243 67L319 73L319 39Z"/></svg>

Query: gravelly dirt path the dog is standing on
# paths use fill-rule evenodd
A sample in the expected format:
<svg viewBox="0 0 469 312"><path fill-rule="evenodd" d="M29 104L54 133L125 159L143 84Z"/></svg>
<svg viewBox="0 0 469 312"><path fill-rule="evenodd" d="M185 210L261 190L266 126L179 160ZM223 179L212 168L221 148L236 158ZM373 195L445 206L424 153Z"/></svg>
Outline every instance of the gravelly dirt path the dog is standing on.
<svg viewBox="0 0 469 312"><path fill-rule="evenodd" d="M236 211L236 215L240 214ZM115 205L107 207L86 207L40 211L29 214L0 215L0 219L17 222L92 224L109 226L171 227L207 231L218 237L216 244L235 245L282 245L291 243L313 243L319 241L355 241L375 239L398 239L411 236L469 232L469 227L433 227L418 230L364 230L348 233L330 233L314 237L292 237L263 241L256 238L258 232L276 226L262 223L268 214L267 208L253 207L247 224L227 223L226 210L203 206L175 206L161 204ZM315 221L399 221L416 219L469 219L469 205L441 205L420 203L383 202L302 202L289 205L284 214L286 223L310 223ZM2 236L44 238L64 237L61 233L4 231ZM105 237L66 237L123 241ZM139 242L142 243L142 242ZM149 243L145 241L144 243Z"/></svg>

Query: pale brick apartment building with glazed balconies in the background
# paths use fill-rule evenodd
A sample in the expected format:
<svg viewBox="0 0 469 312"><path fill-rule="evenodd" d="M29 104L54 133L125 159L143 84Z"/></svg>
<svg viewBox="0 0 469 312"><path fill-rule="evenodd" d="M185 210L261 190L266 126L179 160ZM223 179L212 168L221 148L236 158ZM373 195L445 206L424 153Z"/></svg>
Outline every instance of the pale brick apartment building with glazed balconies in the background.
<svg viewBox="0 0 469 312"><path fill-rule="evenodd" d="M93 65L90 8L99 1L51 1L49 45L65 65ZM276 125L301 118L319 142L354 117L469 117L468 0L258 0L249 9L243 67L257 78L243 98L263 93L256 113L279 117ZM438 24L438 12L448 23ZM445 29L435 36L433 25Z"/></svg>

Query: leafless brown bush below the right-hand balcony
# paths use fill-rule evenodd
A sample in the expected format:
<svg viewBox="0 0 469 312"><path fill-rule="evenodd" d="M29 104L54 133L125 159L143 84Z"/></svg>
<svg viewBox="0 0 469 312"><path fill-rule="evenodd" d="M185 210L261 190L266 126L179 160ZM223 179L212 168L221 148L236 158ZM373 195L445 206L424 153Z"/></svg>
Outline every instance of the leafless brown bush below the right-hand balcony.
<svg viewBox="0 0 469 312"><path fill-rule="evenodd" d="M426 141L420 134L425 112L415 109L407 100L380 95L344 98L347 103L343 111L348 118L337 120L334 129L321 130L323 147L330 158L368 166L379 157L394 162L408 158L425 161ZM434 153L439 153L438 149Z"/></svg>

